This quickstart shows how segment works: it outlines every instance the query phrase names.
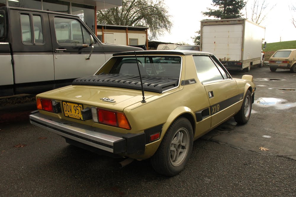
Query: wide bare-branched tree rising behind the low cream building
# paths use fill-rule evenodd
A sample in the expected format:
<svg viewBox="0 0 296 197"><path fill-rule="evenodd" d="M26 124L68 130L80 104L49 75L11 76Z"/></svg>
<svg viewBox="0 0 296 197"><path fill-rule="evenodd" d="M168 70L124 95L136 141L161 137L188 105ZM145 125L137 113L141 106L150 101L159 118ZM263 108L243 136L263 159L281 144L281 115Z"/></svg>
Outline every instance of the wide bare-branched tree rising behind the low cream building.
<svg viewBox="0 0 296 197"><path fill-rule="evenodd" d="M149 39L170 32L172 22L164 0L123 0L121 7L97 11L97 22L149 27Z"/></svg>

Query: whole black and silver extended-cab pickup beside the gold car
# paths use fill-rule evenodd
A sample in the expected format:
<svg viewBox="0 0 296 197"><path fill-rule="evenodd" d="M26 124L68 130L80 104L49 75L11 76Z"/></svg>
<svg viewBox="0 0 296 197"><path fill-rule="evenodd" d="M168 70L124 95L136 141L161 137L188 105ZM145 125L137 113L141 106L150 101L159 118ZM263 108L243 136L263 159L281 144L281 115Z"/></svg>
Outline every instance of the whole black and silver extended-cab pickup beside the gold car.
<svg viewBox="0 0 296 197"><path fill-rule="evenodd" d="M115 52L74 15L0 7L0 97L39 93L94 73Z"/></svg>

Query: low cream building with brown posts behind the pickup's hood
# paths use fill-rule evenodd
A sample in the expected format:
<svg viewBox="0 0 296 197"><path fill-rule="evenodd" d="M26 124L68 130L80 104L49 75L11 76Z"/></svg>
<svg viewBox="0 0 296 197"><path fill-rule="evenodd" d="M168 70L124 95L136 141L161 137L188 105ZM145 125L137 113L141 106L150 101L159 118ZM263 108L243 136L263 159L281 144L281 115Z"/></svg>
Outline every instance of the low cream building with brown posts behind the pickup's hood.
<svg viewBox="0 0 296 197"><path fill-rule="evenodd" d="M98 24L97 37L104 43L146 45L148 49L148 27Z"/></svg>

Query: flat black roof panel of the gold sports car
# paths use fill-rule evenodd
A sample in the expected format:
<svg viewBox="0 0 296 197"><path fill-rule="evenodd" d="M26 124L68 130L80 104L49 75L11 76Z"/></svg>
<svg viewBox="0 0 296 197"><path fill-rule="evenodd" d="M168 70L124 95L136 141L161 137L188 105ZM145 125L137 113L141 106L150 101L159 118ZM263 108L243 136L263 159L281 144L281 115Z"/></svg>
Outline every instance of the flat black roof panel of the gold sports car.
<svg viewBox="0 0 296 197"><path fill-rule="evenodd" d="M189 51L189 50L149 50L149 51L136 51L136 55L213 55L212 53L203 51ZM115 53L113 56L119 55L135 55L134 51Z"/></svg>

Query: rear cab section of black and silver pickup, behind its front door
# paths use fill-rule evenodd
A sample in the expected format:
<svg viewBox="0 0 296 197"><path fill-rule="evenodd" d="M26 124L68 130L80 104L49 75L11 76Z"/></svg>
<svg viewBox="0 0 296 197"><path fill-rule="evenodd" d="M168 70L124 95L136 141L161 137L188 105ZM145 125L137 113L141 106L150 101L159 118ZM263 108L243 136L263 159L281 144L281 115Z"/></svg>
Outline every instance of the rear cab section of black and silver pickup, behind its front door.
<svg viewBox="0 0 296 197"><path fill-rule="evenodd" d="M54 65L48 14L10 9L15 94L52 89Z"/></svg>

